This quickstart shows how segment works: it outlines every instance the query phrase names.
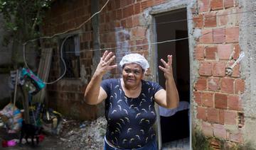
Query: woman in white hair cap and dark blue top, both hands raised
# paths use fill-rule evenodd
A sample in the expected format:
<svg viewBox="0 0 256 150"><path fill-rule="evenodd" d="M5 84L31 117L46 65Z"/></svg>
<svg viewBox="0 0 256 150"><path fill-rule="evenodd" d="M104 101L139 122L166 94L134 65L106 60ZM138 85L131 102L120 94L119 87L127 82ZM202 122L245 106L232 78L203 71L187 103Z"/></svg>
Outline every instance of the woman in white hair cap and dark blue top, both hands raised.
<svg viewBox="0 0 256 150"><path fill-rule="evenodd" d="M170 55L168 62L161 59L166 78L166 90L158 83L144 81L144 71L149 63L140 54L127 54L119 63L121 79L102 76L117 64L110 65L115 56L105 51L85 90L85 101L96 105L105 100L107 132L105 149L157 149L156 134L152 126L156 121L154 102L164 108L178 106L178 91L174 82Z"/></svg>

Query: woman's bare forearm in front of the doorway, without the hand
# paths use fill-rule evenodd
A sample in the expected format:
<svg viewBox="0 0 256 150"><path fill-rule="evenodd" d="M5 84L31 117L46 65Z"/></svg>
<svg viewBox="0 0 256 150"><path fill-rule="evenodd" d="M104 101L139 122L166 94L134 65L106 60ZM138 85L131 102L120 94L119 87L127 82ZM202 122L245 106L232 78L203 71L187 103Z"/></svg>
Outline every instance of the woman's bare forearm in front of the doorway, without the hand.
<svg viewBox="0 0 256 150"><path fill-rule="evenodd" d="M167 108L178 107L178 90L175 85L174 78L166 79L166 104Z"/></svg>

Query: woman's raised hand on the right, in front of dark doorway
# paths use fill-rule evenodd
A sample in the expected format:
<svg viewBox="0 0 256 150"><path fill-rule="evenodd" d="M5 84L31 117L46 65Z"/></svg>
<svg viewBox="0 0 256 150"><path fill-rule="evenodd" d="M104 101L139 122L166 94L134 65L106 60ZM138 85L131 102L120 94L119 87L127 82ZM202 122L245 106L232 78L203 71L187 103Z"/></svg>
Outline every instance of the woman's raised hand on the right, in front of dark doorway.
<svg viewBox="0 0 256 150"><path fill-rule="evenodd" d="M167 56L168 62L165 62L164 59L161 59L161 62L164 64L164 67L159 66L161 71L164 71L164 77L166 80L173 78L173 69L172 69L172 55Z"/></svg>

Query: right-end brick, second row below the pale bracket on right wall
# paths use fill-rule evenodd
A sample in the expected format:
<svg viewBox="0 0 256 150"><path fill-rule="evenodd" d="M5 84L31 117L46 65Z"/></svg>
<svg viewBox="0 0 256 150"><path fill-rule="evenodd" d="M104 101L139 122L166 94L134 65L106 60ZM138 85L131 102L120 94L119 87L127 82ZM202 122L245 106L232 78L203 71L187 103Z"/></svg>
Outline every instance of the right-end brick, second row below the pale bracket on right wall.
<svg viewBox="0 0 256 150"><path fill-rule="evenodd" d="M228 96L228 109L230 110L242 110L242 102L239 96Z"/></svg>

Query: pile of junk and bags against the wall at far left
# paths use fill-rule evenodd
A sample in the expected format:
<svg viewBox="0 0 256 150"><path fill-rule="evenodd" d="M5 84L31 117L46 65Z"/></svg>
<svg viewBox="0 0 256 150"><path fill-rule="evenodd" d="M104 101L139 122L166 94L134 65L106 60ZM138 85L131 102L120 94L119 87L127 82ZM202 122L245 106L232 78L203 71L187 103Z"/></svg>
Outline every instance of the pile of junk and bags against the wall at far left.
<svg viewBox="0 0 256 150"><path fill-rule="evenodd" d="M45 100L35 98L42 94L46 83L33 71L25 68L11 71L10 83L14 98L0 110L1 134L6 132L6 135L1 137L2 147L24 143L31 143L34 146L43 141L45 134L59 134L62 115L47 108ZM23 98L19 100L21 105L17 106L18 89Z"/></svg>

